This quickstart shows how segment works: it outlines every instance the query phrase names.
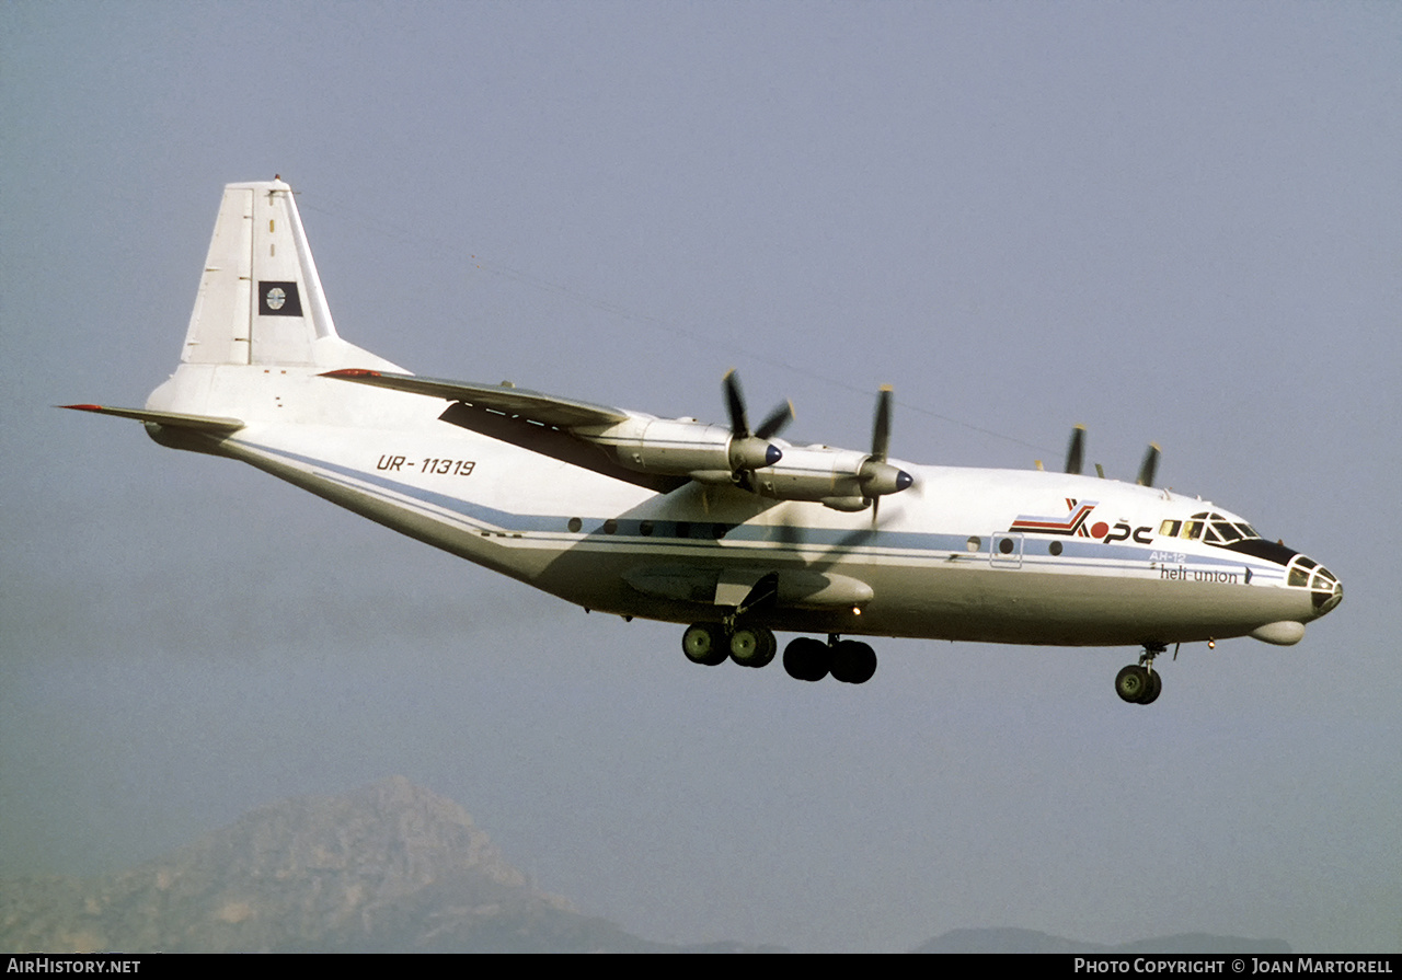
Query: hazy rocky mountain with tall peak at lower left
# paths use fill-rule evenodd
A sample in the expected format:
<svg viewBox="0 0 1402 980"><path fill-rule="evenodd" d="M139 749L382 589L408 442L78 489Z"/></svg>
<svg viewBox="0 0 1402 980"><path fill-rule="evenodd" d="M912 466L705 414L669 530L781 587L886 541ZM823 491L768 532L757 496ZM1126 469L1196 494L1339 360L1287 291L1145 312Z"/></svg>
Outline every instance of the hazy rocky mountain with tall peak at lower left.
<svg viewBox="0 0 1402 980"><path fill-rule="evenodd" d="M533 887L451 801L402 777L300 796L132 871L0 883L35 952L739 952L649 942Z"/></svg>

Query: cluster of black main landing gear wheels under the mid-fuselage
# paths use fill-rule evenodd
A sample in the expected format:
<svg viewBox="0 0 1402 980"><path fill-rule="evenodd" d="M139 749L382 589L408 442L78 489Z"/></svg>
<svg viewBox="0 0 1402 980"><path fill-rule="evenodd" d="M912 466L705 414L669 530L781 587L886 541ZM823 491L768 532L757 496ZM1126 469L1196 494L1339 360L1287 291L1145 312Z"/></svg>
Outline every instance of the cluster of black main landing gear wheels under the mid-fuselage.
<svg viewBox="0 0 1402 980"><path fill-rule="evenodd" d="M774 659L778 641L764 627L697 622L681 635L681 649L688 660L708 667L726 658L743 667L763 667ZM837 634L830 634L826 644L799 637L784 648L784 670L795 680L815 681L831 674L844 684L865 684L876 673L876 651Z"/></svg>

